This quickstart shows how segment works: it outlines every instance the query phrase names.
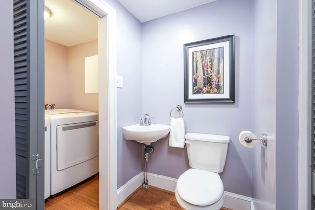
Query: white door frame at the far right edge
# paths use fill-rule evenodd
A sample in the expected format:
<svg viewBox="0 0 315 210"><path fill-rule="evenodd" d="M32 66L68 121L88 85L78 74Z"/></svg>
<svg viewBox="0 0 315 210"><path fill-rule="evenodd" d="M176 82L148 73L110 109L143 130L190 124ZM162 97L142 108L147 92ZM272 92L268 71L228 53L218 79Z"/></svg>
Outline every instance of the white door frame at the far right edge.
<svg viewBox="0 0 315 210"><path fill-rule="evenodd" d="M298 208L308 209L309 196L309 112L310 112L310 27L311 1L299 0L299 181Z"/></svg>

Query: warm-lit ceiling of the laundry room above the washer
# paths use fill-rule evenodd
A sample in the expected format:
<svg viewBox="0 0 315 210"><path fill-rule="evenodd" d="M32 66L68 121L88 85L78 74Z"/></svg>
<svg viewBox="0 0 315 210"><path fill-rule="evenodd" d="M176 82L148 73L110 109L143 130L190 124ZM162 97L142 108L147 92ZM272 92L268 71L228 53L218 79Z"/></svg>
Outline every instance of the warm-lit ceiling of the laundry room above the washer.
<svg viewBox="0 0 315 210"><path fill-rule="evenodd" d="M73 46L97 39L99 17L71 0L45 0L51 16L45 20L45 38Z"/></svg>

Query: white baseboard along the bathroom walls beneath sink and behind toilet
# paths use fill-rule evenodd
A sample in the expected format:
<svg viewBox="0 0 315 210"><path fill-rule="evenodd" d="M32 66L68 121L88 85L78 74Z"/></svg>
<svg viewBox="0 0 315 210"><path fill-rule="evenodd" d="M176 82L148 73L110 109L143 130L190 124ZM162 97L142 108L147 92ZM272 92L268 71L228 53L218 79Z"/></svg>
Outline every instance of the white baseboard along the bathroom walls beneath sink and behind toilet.
<svg viewBox="0 0 315 210"><path fill-rule="evenodd" d="M139 173L117 190L118 204L122 203L131 193L142 185L143 173ZM177 179L163 175L148 173L149 186L175 192ZM254 210L251 197L224 191L225 201L223 207L233 210Z"/></svg>

